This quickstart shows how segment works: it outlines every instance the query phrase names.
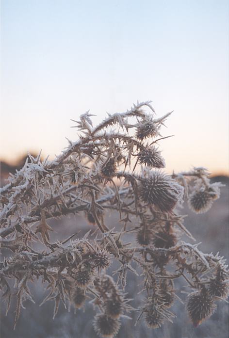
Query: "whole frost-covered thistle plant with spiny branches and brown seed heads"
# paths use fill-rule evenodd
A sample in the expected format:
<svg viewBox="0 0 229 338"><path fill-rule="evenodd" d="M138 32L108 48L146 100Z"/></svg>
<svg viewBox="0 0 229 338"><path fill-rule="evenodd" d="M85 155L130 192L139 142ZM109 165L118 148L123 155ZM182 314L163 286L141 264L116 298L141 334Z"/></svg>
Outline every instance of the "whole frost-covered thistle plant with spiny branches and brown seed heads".
<svg viewBox="0 0 229 338"><path fill-rule="evenodd" d="M74 121L77 142L69 141L54 161L29 155L9 177L1 189L0 281L7 311L16 294L15 325L23 302L33 302L28 282L38 278L48 293L42 304L54 301L53 318L60 303L75 311L94 306L94 328L104 338L117 334L130 311L138 311L137 322L144 318L150 328L172 322L170 307L183 302L179 291L187 293L195 326L227 299L225 260L198 249L179 212L184 200L196 213L208 211L221 185L212 184L204 168L164 173L159 143L169 137L161 134L169 115L157 117L150 102L141 102L93 127L87 112ZM84 216L92 229L53 241L50 220L69 214ZM120 222L108 226L109 214ZM138 308L125 293L131 274L144 294ZM182 278L187 288L177 290Z"/></svg>

